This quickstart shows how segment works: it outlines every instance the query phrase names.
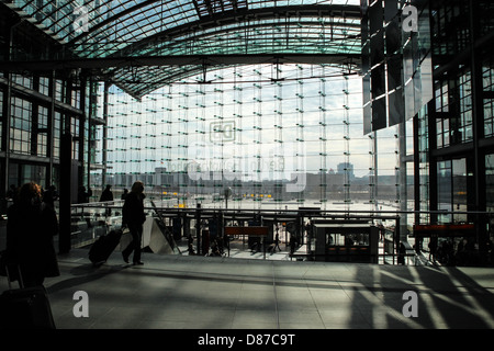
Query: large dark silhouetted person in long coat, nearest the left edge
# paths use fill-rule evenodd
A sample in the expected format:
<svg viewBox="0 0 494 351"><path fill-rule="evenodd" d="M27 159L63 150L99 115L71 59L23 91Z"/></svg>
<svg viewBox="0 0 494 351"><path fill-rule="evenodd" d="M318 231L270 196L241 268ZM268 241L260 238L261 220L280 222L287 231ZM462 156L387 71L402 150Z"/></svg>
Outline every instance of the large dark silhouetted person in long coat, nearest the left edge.
<svg viewBox="0 0 494 351"><path fill-rule="evenodd" d="M40 185L22 185L18 202L8 210L7 261L10 267L19 264L24 286L42 285L45 278L60 275L53 244L57 234L56 213L42 202Z"/></svg>

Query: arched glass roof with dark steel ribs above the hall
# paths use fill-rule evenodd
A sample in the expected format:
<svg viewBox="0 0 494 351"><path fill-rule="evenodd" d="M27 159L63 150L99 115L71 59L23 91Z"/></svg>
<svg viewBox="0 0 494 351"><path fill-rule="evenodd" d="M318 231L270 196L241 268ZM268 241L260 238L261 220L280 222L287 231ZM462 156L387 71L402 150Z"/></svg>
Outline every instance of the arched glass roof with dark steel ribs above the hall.
<svg viewBox="0 0 494 351"><path fill-rule="evenodd" d="M11 5L12 7L12 5ZM360 0L14 0L79 58L360 54ZM218 63L221 64L221 63ZM147 69L168 81L202 68ZM110 69L130 80L128 69ZM159 72L159 75L156 75ZM134 87L133 93L145 94ZM159 88L159 87L155 87Z"/></svg>

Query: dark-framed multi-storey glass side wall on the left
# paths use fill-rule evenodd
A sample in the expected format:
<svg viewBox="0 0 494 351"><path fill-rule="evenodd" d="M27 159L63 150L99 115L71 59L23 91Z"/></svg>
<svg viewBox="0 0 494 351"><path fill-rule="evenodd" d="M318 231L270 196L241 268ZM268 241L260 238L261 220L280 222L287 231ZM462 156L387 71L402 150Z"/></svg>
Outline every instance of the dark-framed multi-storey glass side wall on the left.
<svg viewBox="0 0 494 351"><path fill-rule="evenodd" d="M58 186L64 131L76 136L74 160L79 159L79 151L88 144L87 135L78 137L83 118L81 97L87 91L82 92L74 80L53 79L46 75L3 75L1 79L0 114L9 116L0 123L1 140L4 140L2 167L9 169L2 180L5 189L29 180L43 188L49 183ZM9 126L8 131L5 126Z"/></svg>

